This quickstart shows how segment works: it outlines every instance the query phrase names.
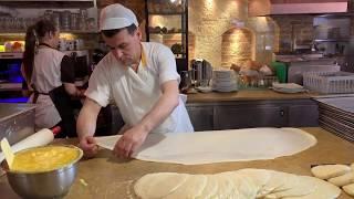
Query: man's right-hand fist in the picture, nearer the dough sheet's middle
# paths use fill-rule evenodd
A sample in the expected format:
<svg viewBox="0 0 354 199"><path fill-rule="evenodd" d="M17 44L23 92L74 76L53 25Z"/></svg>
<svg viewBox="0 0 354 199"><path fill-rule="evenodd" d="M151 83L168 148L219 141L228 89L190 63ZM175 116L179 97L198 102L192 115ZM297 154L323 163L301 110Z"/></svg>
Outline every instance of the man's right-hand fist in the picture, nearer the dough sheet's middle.
<svg viewBox="0 0 354 199"><path fill-rule="evenodd" d="M114 146L114 153L119 158L128 158L145 142L148 132L140 126L126 130Z"/></svg>

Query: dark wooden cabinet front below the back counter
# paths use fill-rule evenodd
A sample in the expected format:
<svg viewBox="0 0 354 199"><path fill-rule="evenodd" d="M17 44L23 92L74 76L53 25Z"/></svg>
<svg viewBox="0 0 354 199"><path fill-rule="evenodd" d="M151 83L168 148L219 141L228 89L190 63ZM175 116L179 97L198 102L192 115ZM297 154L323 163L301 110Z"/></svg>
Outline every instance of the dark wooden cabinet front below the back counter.
<svg viewBox="0 0 354 199"><path fill-rule="evenodd" d="M187 109L195 130L319 125L312 100L189 103Z"/></svg>

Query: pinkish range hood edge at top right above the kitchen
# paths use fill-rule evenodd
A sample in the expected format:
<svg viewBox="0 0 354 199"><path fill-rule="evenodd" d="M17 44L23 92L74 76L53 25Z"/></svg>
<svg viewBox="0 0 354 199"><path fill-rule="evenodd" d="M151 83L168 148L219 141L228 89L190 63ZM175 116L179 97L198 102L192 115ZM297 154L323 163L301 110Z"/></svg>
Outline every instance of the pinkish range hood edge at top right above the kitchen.
<svg viewBox="0 0 354 199"><path fill-rule="evenodd" d="M249 15L343 13L347 0L249 0Z"/></svg>

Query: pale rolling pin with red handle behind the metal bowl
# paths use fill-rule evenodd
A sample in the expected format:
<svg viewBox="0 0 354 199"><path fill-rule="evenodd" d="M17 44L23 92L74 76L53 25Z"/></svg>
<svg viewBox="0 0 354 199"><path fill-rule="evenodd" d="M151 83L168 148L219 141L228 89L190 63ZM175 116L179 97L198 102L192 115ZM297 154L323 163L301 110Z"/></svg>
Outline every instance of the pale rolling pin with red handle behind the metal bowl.
<svg viewBox="0 0 354 199"><path fill-rule="evenodd" d="M52 132L53 130L53 132ZM48 128L43 128L27 138L20 140L19 143L11 146L11 149L13 153L31 148L31 147L38 147L38 146L44 146L53 142L54 135L60 132L59 128L53 128L52 130ZM4 159L4 156L2 153L0 153L0 163Z"/></svg>

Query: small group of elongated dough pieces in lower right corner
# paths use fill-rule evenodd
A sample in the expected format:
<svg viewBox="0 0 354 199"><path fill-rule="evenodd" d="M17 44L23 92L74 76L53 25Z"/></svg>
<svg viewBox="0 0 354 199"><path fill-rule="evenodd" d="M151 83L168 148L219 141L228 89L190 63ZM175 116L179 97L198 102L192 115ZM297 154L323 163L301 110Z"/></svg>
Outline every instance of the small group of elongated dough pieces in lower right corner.
<svg viewBox="0 0 354 199"><path fill-rule="evenodd" d="M320 165L311 168L311 172L320 179L342 187L347 195L354 196L354 163L351 166Z"/></svg>

